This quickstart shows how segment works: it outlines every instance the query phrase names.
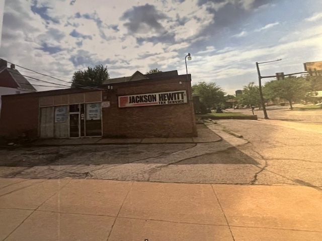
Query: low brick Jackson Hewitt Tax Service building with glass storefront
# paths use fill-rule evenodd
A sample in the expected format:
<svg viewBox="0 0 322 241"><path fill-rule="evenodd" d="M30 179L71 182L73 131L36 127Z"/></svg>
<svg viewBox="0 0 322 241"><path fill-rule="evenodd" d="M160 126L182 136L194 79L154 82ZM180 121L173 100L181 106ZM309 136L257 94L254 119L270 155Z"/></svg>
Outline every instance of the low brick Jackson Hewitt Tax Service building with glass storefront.
<svg viewBox="0 0 322 241"><path fill-rule="evenodd" d="M3 96L0 136L197 136L191 76L177 71L108 79L100 87Z"/></svg>

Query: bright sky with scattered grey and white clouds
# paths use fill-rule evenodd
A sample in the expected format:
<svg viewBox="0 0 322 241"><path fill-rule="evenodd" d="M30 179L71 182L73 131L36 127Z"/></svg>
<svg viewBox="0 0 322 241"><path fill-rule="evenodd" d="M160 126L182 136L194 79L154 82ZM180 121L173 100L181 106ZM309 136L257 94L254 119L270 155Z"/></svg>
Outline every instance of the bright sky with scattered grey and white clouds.
<svg viewBox="0 0 322 241"><path fill-rule="evenodd" d="M3 15L0 58L64 81L96 64L111 78L152 68L185 74L189 52L193 83L233 94L257 81L255 62L282 58L261 65L274 75L322 60L320 0L6 0Z"/></svg>

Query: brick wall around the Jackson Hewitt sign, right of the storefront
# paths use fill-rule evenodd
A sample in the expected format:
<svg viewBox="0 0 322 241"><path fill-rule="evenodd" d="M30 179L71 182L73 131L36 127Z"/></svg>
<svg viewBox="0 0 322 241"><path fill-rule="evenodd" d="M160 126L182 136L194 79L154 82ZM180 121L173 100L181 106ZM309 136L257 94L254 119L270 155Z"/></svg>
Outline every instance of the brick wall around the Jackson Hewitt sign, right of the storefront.
<svg viewBox="0 0 322 241"><path fill-rule="evenodd" d="M181 84L179 82L182 82ZM103 108L104 137L194 137L197 136L193 102L139 107L118 107L117 96L186 90L191 97L190 81L178 76L166 81L126 83L107 91L111 107ZM189 90L189 91L188 91ZM103 97L104 99L104 97Z"/></svg>

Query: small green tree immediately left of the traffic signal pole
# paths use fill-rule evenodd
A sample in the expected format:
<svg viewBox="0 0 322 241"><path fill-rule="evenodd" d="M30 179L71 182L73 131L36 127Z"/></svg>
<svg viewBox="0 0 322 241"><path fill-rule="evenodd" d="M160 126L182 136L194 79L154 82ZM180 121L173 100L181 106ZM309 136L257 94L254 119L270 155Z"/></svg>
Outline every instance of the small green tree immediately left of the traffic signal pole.
<svg viewBox="0 0 322 241"><path fill-rule="evenodd" d="M254 82L244 86L243 93L236 96L238 104L251 105L251 106L262 106L260 90Z"/></svg>

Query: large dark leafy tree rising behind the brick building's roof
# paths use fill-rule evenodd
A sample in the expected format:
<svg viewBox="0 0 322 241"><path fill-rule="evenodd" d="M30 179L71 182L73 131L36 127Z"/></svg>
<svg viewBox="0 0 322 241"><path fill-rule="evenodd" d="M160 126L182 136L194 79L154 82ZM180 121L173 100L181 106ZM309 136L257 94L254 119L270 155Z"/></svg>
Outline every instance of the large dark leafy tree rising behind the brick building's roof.
<svg viewBox="0 0 322 241"><path fill-rule="evenodd" d="M109 79L110 74L107 67L96 65L94 68L88 67L86 70L78 70L72 76L71 88L90 86L96 87Z"/></svg>

